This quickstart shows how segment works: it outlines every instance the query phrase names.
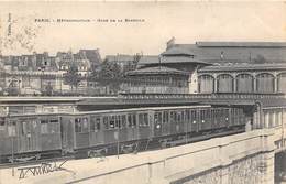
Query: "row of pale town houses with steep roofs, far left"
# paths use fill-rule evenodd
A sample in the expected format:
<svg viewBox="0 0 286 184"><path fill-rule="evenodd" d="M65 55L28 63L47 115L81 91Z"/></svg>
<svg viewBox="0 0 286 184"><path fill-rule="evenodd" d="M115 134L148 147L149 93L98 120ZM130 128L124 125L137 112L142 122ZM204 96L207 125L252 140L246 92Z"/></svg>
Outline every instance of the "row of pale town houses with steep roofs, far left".
<svg viewBox="0 0 286 184"><path fill-rule="evenodd" d="M98 50L80 50L78 53L58 52L56 56L48 53L33 53L32 55L1 56L0 89L3 94L13 89L15 94L41 95L52 89L55 94L70 90L65 83L64 74L70 65L76 65L81 77L79 90L87 87L87 77L94 65L100 65L101 57ZM6 90L7 89L7 90Z"/></svg>

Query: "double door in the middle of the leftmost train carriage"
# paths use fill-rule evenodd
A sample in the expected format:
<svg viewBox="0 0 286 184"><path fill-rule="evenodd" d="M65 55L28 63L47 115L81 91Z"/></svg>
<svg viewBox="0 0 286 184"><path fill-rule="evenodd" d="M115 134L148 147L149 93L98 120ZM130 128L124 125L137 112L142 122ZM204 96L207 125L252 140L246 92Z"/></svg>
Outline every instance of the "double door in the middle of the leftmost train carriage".
<svg viewBox="0 0 286 184"><path fill-rule="evenodd" d="M36 119L20 120L20 152L38 151L38 122Z"/></svg>

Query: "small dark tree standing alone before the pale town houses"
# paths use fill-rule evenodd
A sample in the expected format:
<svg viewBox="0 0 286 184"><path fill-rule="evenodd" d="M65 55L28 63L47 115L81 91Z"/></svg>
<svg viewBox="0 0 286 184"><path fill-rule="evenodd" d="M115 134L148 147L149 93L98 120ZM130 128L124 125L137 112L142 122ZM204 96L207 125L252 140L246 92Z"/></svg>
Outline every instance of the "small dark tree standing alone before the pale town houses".
<svg viewBox="0 0 286 184"><path fill-rule="evenodd" d="M78 87L81 77L78 74L78 68L76 66L76 64L72 64L67 71L67 73L64 75L64 80L65 83L67 83L68 85L70 85L72 90L74 90L74 87Z"/></svg>

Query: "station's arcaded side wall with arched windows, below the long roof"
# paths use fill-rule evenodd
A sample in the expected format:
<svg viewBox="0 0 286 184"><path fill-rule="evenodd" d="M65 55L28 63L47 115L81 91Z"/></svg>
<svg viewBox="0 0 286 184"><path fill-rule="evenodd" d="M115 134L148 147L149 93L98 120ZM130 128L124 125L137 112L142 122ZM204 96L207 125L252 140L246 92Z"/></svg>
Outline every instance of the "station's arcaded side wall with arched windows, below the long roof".
<svg viewBox="0 0 286 184"><path fill-rule="evenodd" d="M286 64L213 65L198 69L198 93L285 93Z"/></svg>

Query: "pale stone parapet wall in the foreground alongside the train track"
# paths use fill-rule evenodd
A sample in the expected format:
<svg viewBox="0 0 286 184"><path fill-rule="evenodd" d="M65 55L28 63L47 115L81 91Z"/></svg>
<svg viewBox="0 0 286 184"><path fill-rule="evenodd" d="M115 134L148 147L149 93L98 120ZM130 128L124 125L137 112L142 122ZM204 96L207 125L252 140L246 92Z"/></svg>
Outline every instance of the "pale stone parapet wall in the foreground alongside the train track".
<svg viewBox="0 0 286 184"><path fill-rule="evenodd" d="M56 183L274 183L275 129L216 138L169 149L66 163L57 172L28 178ZM82 167L84 166L84 167ZM62 173L61 173L62 172ZM24 178L25 180L25 178Z"/></svg>

